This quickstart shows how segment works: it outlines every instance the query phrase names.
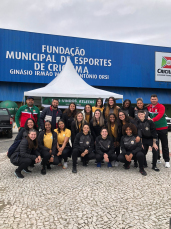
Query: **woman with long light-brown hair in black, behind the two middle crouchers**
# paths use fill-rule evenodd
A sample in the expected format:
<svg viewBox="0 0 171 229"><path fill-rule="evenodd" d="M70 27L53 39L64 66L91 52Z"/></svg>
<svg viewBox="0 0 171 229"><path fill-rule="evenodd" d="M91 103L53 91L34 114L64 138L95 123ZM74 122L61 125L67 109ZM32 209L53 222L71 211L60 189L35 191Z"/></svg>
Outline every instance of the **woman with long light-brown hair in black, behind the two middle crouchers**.
<svg viewBox="0 0 171 229"><path fill-rule="evenodd" d="M104 126L104 118L103 118L101 111L97 109L94 112L94 116L90 121L90 130L94 138L94 141L100 135L102 126Z"/></svg>

